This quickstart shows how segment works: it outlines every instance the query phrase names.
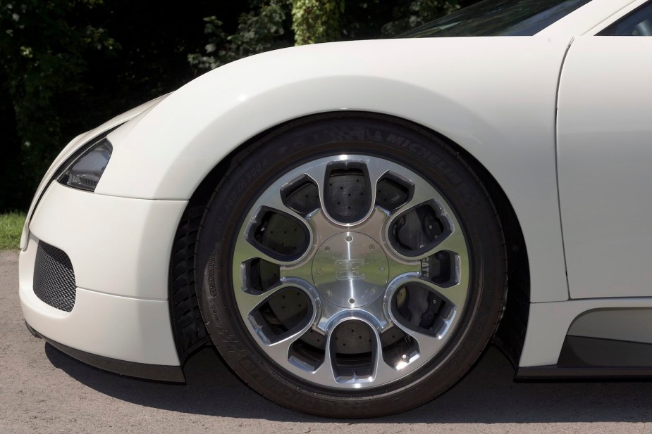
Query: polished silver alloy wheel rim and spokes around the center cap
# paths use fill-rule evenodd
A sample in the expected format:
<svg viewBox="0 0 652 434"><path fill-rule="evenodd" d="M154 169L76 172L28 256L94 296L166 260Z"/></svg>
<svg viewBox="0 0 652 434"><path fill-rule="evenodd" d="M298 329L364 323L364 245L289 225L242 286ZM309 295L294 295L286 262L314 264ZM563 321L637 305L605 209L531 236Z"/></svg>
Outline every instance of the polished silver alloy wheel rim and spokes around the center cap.
<svg viewBox="0 0 652 434"><path fill-rule="evenodd" d="M372 199L371 207L362 219L352 223L341 223L333 219L328 214L324 203L324 177L326 167L333 162L355 162L367 167L369 179L373 188L371 188ZM401 206L395 212L388 212L376 206L376 183L386 174L396 174L403 179L407 179L415 186L414 193L407 204ZM309 177L319 188L320 208L309 215L300 215L299 212L285 206L281 198L283 186L299 177ZM439 208L441 217L448 222L450 233L443 240L430 248L426 253L417 256L407 256L396 250L389 239L388 229L402 213L410 210L417 205L426 202L433 202ZM308 234L308 247L305 251L293 260L282 261L266 255L257 250L248 241L250 226L256 221L259 210L263 207L279 210L286 215L297 219L305 224ZM324 293L319 291L312 278L312 264L316 251L323 245L324 241L332 236L343 234L345 232L359 232L365 236L377 241L383 252L389 259L388 283L381 289L382 293L373 302L365 305L344 307L333 304L326 300ZM440 248L441 246L441 248ZM422 260L436 251L450 251L454 253L456 281L450 286L438 286L432 282L426 281L422 276ZM252 295L245 291L245 271L244 263L252 257L259 257L263 260L269 260L278 264L281 271L281 279L277 285L276 291L283 288L295 288L305 294L310 302L311 313L305 324L290 336L270 342L266 336L261 334L261 329L255 321L252 321L252 311L256 308ZM419 262L419 265L415 264ZM392 268L393 267L393 268ZM283 273L285 270L285 273ZM308 272L309 270L309 272ZM462 231L462 226L447 200L438 192L424 177L407 169L395 162L371 155L333 155L330 157L319 158L307 162L299 167L289 170L281 177L272 182L272 184L257 198L254 205L250 208L244 222L240 226L238 238L233 250L233 288L235 291L235 301L238 305L240 317L249 331L252 339L266 353L273 362L281 366L286 371L305 380L309 383L319 385L325 388L334 389L365 389L376 386L393 383L416 371L434 359L441 353L442 347L450 340L450 336L455 332L457 324L465 311L465 305L469 300L469 249L467 240ZM401 324L391 308L391 303L396 291L400 290L406 283L422 285L435 291L438 295L443 296L453 304L447 318L444 319L445 326L441 328L441 333L437 336L429 336L425 333L412 330ZM273 290L270 290L273 291ZM457 291L455 293L455 291ZM455 296L450 294L455 293ZM271 297L269 291L255 297L264 302L266 298ZM360 321L369 326L372 332L372 358L374 358L374 369L371 376L367 378L345 378L338 379L336 366L333 366L333 355L331 355L331 339L335 328L346 321ZM397 326L400 330L416 340L419 351L407 356L395 366L390 366L383 361L381 346L381 333L392 326ZM290 345L288 342L294 342L303 333L308 331L323 333L326 337L326 350L324 362L320 366L306 366L296 359L290 357ZM375 352L375 353L374 353Z"/></svg>

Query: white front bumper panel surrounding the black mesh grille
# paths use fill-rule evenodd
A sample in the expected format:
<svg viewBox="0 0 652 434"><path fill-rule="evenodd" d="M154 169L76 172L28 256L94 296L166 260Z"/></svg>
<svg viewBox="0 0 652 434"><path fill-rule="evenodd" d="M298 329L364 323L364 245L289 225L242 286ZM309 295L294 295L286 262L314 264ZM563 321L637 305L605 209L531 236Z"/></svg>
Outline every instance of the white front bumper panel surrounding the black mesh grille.
<svg viewBox="0 0 652 434"><path fill-rule="evenodd" d="M19 293L27 324L60 347L75 350L77 355L67 351L73 357L96 366L92 357L79 355L179 366L168 306L168 269L186 204L102 196L52 182L20 253ZM34 292L39 241L70 257L76 287L70 312L48 305Z"/></svg>

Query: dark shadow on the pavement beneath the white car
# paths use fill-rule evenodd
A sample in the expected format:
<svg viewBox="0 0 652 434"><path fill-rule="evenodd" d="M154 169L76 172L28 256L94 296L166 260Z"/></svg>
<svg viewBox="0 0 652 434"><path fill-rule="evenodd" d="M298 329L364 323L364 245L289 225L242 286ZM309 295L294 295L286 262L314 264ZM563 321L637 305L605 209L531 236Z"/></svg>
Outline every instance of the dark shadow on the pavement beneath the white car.
<svg viewBox="0 0 652 434"><path fill-rule="evenodd" d="M146 407L246 419L324 422L278 407L240 383L214 349L185 365L187 385L126 378L99 371L49 344L50 362L76 381L119 400ZM352 423L650 422L652 383L514 383L514 371L496 348L452 390L398 416Z"/></svg>

